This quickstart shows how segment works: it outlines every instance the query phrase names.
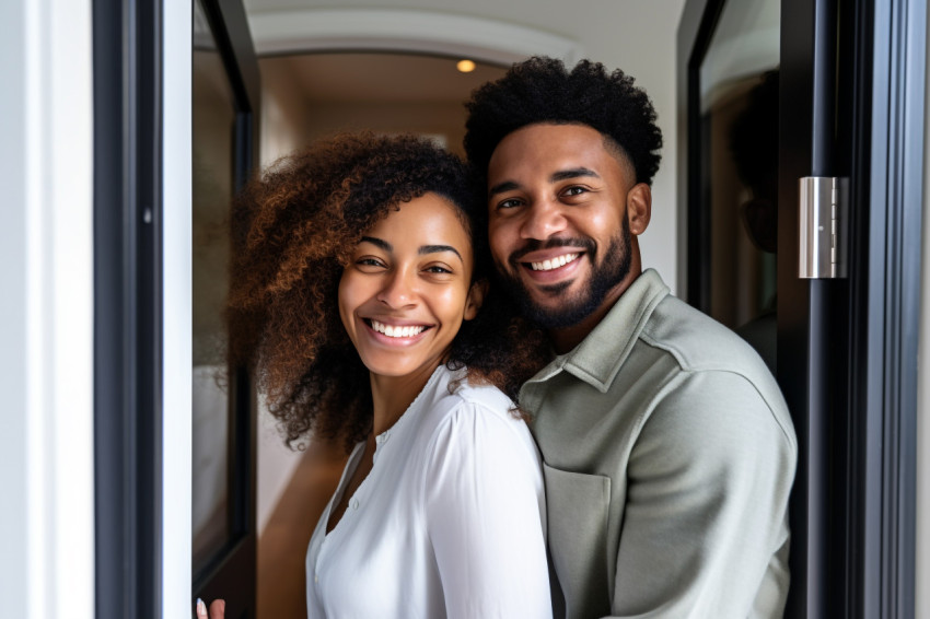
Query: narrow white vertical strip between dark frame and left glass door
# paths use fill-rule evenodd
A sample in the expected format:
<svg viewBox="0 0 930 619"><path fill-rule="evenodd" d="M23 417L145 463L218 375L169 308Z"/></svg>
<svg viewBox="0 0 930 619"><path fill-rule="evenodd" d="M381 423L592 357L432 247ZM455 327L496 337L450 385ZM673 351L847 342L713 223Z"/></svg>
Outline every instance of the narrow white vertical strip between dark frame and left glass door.
<svg viewBox="0 0 930 619"><path fill-rule="evenodd" d="M162 13L162 616L190 617L191 24L188 2Z"/></svg>

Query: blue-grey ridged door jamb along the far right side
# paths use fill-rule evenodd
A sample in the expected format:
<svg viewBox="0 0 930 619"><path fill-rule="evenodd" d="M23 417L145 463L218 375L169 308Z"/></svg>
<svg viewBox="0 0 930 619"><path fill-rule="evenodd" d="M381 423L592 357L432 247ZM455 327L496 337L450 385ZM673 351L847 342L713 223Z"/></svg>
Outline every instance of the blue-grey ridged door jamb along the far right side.
<svg viewBox="0 0 930 619"><path fill-rule="evenodd" d="M926 2L858 8L850 305L853 490L847 589L852 617L914 617L917 340L926 82Z"/></svg>

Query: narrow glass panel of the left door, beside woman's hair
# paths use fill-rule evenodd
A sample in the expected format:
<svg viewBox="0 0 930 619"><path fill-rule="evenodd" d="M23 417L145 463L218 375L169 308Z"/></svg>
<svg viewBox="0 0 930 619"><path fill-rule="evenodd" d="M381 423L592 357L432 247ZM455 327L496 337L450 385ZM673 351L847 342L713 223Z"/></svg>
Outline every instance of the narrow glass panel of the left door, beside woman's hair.
<svg viewBox="0 0 930 619"><path fill-rule="evenodd" d="M222 388L235 110L226 72L194 4L194 569L230 536L230 401Z"/></svg>

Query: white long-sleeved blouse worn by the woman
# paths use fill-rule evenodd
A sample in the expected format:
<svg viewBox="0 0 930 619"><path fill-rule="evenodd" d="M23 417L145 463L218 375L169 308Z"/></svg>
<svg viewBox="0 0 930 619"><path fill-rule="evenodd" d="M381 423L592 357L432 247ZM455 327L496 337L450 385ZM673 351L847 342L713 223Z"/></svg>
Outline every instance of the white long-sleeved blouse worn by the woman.
<svg viewBox="0 0 930 619"><path fill-rule="evenodd" d="M356 446L306 551L307 617L551 617L539 452L511 400L444 365L393 428L327 535Z"/></svg>

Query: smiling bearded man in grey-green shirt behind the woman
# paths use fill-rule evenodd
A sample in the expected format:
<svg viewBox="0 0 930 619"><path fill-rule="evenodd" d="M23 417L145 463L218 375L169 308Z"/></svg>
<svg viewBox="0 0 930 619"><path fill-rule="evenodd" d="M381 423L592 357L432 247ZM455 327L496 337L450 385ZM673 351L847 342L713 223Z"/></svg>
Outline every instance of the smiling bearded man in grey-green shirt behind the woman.
<svg viewBox="0 0 930 619"><path fill-rule="evenodd" d="M521 405L567 617L780 617L794 432L759 357L642 270L662 142L646 93L534 58L468 112L491 253L556 354Z"/></svg>

